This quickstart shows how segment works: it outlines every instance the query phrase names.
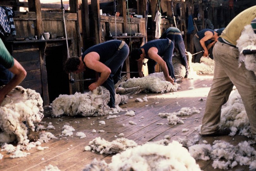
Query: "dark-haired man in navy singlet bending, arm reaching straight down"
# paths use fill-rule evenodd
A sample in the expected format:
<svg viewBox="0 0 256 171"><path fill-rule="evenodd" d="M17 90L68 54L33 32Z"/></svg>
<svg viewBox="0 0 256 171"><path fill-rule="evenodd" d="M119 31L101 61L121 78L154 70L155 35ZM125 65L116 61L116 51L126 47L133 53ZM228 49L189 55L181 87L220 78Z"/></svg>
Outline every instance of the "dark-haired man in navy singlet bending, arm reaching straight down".
<svg viewBox="0 0 256 171"><path fill-rule="evenodd" d="M149 74L155 73L155 65L158 63L162 68L165 80L174 83L176 80L172 62L173 50L174 43L168 38L151 40L140 48L134 48L131 51L131 59L137 60L139 77L143 77L141 71L143 60L146 58L149 59L147 62Z"/></svg>

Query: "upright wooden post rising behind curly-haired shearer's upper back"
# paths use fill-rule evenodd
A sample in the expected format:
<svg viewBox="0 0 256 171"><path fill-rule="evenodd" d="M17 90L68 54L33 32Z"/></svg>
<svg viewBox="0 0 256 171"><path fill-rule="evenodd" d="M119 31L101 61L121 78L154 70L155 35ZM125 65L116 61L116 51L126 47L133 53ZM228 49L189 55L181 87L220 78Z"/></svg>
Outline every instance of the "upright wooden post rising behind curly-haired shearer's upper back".
<svg viewBox="0 0 256 171"><path fill-rule="evenodd" d="M93 13L93 21L94 21L94 44L101 43L101 31L100 31L100 0L91 1L92 11Z"/></svg>

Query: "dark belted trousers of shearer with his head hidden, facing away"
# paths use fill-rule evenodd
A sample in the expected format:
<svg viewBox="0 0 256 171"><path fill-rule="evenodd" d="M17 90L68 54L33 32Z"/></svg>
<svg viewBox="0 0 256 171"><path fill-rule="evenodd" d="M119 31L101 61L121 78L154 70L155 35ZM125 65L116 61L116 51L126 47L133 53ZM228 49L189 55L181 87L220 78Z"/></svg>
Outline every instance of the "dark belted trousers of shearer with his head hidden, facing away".
<svg viewBox="0 0 256 171"><path fill-rule="evenodd" d="M168 34L166 36L168 39L170 39L176 48L178 48L180 52L181 57L181 63L186 68L186 74L188 73L188 65L187 65L187 57L186 57L186 48L183 41L183 38L179 34Z"/></svg>

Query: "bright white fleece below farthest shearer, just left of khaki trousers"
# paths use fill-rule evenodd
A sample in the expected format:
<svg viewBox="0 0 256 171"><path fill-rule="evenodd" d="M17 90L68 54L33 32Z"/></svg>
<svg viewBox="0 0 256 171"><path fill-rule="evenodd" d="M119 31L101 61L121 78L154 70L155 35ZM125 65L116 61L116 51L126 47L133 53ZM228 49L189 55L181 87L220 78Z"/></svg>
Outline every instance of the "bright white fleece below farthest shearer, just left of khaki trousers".
<svg viewBox="0 0 256 171"><path fill-rule="evenodd" d="M214 72L214 60L202 56L201 63L192 63L193 71L197 74L213 74Z"/></svg>

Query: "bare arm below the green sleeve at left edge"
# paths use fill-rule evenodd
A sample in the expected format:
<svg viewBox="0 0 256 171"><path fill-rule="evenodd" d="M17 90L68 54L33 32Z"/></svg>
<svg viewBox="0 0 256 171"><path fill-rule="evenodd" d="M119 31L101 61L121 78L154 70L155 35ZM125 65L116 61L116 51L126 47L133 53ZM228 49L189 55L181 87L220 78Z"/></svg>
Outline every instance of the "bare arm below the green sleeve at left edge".
<svg viewBox="0 0 256 171"><path fill-rule="evenodd" d="M0 103L2 103L4 97L6 94L8 94L13 88L15 88L17 85L19 85L22 80L27 75L27 72L25 69L21 66L21 64L14 59L14 66L9 69L15 76L11 79L11 81L6 84L1 90L0 90Z"/></svg>

